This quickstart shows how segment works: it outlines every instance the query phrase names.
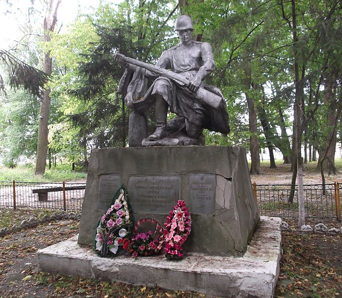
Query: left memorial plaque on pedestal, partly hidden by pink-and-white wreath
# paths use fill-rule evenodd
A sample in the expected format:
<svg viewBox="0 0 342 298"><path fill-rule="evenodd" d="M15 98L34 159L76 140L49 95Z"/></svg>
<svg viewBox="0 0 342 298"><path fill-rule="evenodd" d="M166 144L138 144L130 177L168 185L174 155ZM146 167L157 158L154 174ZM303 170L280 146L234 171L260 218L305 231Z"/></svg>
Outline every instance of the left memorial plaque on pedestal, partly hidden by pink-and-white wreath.
<svg viewBox="0 0 342 298"><path fill-rule="evenodd" d="M101 175L99 181L98 210L107 210L116 191L120 188L120 175Z"/></svg>

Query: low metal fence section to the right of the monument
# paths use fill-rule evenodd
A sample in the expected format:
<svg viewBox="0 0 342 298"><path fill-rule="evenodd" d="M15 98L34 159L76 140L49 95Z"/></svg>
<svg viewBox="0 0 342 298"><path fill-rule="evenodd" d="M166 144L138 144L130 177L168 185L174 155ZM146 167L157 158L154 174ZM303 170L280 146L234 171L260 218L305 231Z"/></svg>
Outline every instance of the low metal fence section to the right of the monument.
<svg viewBox="0 0 342 298"><path fill-rule="evenodd" d="M340 184L304 185L305 217L341 219ZM253 183L254 197L260 215L298 218L297 185L293 203L289 202L291 185L256 185Z"/></svg>

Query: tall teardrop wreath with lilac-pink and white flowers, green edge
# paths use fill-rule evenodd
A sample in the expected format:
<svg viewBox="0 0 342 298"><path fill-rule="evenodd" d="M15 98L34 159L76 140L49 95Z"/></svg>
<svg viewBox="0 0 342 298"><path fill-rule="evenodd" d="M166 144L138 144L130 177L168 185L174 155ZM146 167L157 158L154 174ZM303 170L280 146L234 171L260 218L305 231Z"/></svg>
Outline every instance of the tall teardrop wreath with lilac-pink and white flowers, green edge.
<svg viewBox="0 0 342 298"><path fill-rule="evenodd" d="M122 248L122 239L130 236L133 214L127 190L122 185L115 193L111 207L101 217L96 228L94 250L102 257L116 256Z"/></svg>

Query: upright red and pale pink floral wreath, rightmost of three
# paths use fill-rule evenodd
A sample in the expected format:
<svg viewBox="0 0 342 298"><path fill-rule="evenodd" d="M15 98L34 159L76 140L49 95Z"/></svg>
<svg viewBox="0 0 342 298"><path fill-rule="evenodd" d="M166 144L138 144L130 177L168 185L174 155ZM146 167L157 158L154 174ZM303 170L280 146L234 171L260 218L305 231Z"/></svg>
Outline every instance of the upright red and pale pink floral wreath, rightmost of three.
<svg viewBox="0 0 342 298"><path fill-rule="evenodd" d="M185 240L191 231L191 216L184 201L178 201L164 224L165 257L182 259Z"/></svg>

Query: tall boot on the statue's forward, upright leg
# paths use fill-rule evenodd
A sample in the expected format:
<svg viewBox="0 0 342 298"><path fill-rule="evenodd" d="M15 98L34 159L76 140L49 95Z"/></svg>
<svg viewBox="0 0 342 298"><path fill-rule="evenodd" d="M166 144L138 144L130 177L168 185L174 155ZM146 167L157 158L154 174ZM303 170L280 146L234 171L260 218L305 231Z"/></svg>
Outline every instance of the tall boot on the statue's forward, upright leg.
<svg viewBox="0 0 342 298"><path fill-rule="evenodd" d="M169 105L160 95L156 96L154 114L156 122L155 132L149 136L150 141L157 141L165 138L166 116Z"/></svg>

